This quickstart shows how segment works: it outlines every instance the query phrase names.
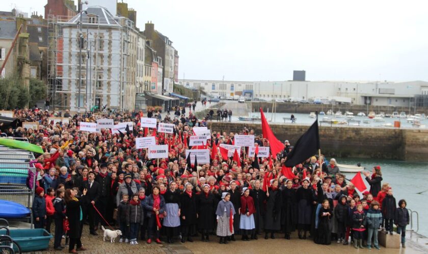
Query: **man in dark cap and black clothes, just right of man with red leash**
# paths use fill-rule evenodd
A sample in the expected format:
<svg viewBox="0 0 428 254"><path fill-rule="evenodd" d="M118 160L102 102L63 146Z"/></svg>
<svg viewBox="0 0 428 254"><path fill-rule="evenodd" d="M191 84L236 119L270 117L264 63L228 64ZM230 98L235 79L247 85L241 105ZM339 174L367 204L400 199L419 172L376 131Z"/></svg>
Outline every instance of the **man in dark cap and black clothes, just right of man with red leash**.
<svg viewBox="0 0 428 254"><path fill-rule="evenodd" d="M106 208L111 203L111 186L112 186L112 178L109 176L109 172L107 172L107 164L100 165L100 172L95 177L95 181L99 183L99 197L96 207L98 211L104 216L108 221L113 220L113 210L109 213L106 211ZM106 213L107 212L107 213ZM112 218L109 218L111 215ZM101 221L102 226L106 226L105 221L101 218L101 216L95 216L95 230L98 229L98 223Z"/></svg>

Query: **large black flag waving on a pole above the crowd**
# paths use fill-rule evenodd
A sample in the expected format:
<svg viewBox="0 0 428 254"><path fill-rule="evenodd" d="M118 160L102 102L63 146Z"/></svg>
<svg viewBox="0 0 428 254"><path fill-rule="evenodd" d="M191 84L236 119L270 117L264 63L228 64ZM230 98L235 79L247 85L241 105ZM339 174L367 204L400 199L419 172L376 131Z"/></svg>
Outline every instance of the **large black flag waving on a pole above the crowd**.
<svg viewBox="0 0 428 254"><path fill-rule="evenodd" d="M317 153L319 149L318 120L310 126L309 130L303 134L296 145L287 155L286 167L294 167L306 161L307 158Z"/></svg>

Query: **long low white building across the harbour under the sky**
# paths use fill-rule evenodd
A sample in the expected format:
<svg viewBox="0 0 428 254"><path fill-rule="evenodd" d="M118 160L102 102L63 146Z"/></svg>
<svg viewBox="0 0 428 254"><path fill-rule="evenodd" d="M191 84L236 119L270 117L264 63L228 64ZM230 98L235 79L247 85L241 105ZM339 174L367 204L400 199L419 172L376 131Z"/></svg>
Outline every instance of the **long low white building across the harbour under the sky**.
<svg viewBox="0 0 428 254"><path fill-rule="evenodd" d="M185 87L203 89L212 96L244 95L266 101L311 100L347 97L352 104L374 106L413 105L416 94L428 94L428 82L374 81L223 81L181 79Z"/></svg>

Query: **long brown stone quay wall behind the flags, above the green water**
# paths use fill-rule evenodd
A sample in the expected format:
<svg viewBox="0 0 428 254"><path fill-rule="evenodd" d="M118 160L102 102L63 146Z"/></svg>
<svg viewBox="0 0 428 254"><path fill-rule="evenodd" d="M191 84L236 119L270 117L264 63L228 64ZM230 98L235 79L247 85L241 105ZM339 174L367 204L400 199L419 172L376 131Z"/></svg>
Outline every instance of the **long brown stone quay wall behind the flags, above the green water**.
<svg viewBox="0 0 428 254"><path fill-rule="evenodd" d="M261 134L260 122L208 122L211 131L237 133L244 125ZM280 141L296 144L309 125L270 123ZM428 130L319 126L321 152L329 157L385 158L428 162Z"/></svg>

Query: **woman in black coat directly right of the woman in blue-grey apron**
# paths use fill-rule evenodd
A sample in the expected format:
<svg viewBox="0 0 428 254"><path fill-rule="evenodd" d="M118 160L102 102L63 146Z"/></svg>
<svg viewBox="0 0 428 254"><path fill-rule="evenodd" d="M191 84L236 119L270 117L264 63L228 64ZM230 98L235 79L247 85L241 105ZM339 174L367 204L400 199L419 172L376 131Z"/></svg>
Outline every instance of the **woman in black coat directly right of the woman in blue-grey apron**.
<svg viewBox="0 0 428 254"><path fill-rule="evenodd" d="M191 183L184 185L184 192L181 194L181 213L180 213L180 224L181 224L181 242L185 242L187 239L189 242L193 242L193 228L197 224L196 215L196 194L193 192L193 186Z"/></svg>

